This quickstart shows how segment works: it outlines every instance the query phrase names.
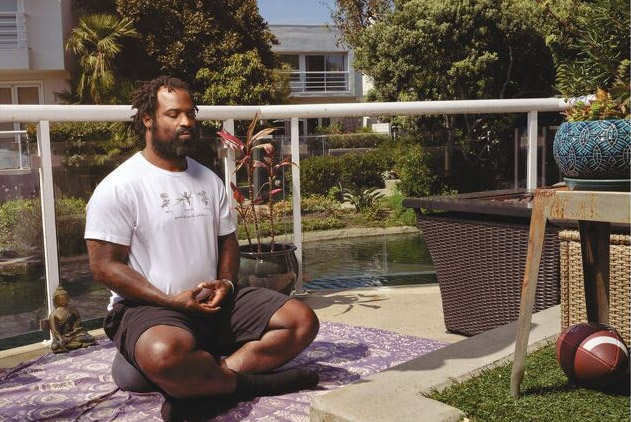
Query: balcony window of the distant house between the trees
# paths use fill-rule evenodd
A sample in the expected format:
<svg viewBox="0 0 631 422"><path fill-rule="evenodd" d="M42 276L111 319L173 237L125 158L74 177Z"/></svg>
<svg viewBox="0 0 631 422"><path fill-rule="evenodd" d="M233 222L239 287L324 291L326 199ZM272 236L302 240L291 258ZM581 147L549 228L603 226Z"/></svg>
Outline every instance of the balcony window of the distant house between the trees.
<svg viewBox="0 0 631 422"><path fill-rule="evenodd" d="M305 56L306 91L347 91L348 75L343 54Z"/></svg>

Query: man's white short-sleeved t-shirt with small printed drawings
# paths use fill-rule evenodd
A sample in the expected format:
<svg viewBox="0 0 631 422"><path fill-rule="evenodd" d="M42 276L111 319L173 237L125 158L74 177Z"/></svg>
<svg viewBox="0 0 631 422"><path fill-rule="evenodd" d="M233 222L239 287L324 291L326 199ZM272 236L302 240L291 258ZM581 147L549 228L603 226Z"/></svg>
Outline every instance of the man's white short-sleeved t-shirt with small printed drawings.
<svg viewBox="0 0 631 422"><path fill-rule="evenodd" d="M96 187L86 239L129 246L129 266L167 294L217 276L217 236L236 230L221 179L187 158L171 172L137 153ZM112 292L108 309L122 298Z"/></svg>

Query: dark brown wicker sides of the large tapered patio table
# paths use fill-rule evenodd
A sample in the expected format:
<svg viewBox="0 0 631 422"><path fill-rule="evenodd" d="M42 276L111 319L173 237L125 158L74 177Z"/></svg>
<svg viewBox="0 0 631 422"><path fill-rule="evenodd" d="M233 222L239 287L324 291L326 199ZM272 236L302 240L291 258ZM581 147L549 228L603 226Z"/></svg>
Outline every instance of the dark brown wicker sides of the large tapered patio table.
<svg viewBox="0 0 631 422"><path fill-rule="evenodd" d="M445 327L468 336L519 317L528 246L527 218L438 213L418 216L432 255ZM534 312L559 303L559 228L548 225Z"/></svg>

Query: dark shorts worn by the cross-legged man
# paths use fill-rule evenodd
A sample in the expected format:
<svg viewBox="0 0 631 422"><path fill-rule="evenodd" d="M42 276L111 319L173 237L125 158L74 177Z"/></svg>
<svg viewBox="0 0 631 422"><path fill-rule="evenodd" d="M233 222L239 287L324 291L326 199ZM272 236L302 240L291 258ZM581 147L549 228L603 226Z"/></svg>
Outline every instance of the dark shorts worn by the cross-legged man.
<svg viewBox="0 0 631 422"><path fill-rule="evenodd" d="M155 325L180 327L195 337L198 348L213 356L227 356L244 343L260 339L272 315L287 300L288 296L270 289L243 287L237 289L233 301L222 304L221 312L211 316L122 300L105 317L103 328L125 359L138 369L136 342Z"/></svg>

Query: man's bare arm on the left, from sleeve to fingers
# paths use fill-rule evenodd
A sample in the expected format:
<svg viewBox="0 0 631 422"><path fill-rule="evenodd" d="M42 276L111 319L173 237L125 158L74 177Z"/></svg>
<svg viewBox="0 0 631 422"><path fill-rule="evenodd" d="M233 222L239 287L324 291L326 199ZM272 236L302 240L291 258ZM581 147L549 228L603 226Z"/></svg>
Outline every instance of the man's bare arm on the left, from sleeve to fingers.
<svg viewBox="0 0 631 422"><path fill-rule="evenodd" d="M199 303L195 296L202 290L185 290L170 296L151 284L127 265L129 247L102 240L87 239L90 270L94 280L133 302L174 308L188 313L213 314L219 308Z"/></svg>

